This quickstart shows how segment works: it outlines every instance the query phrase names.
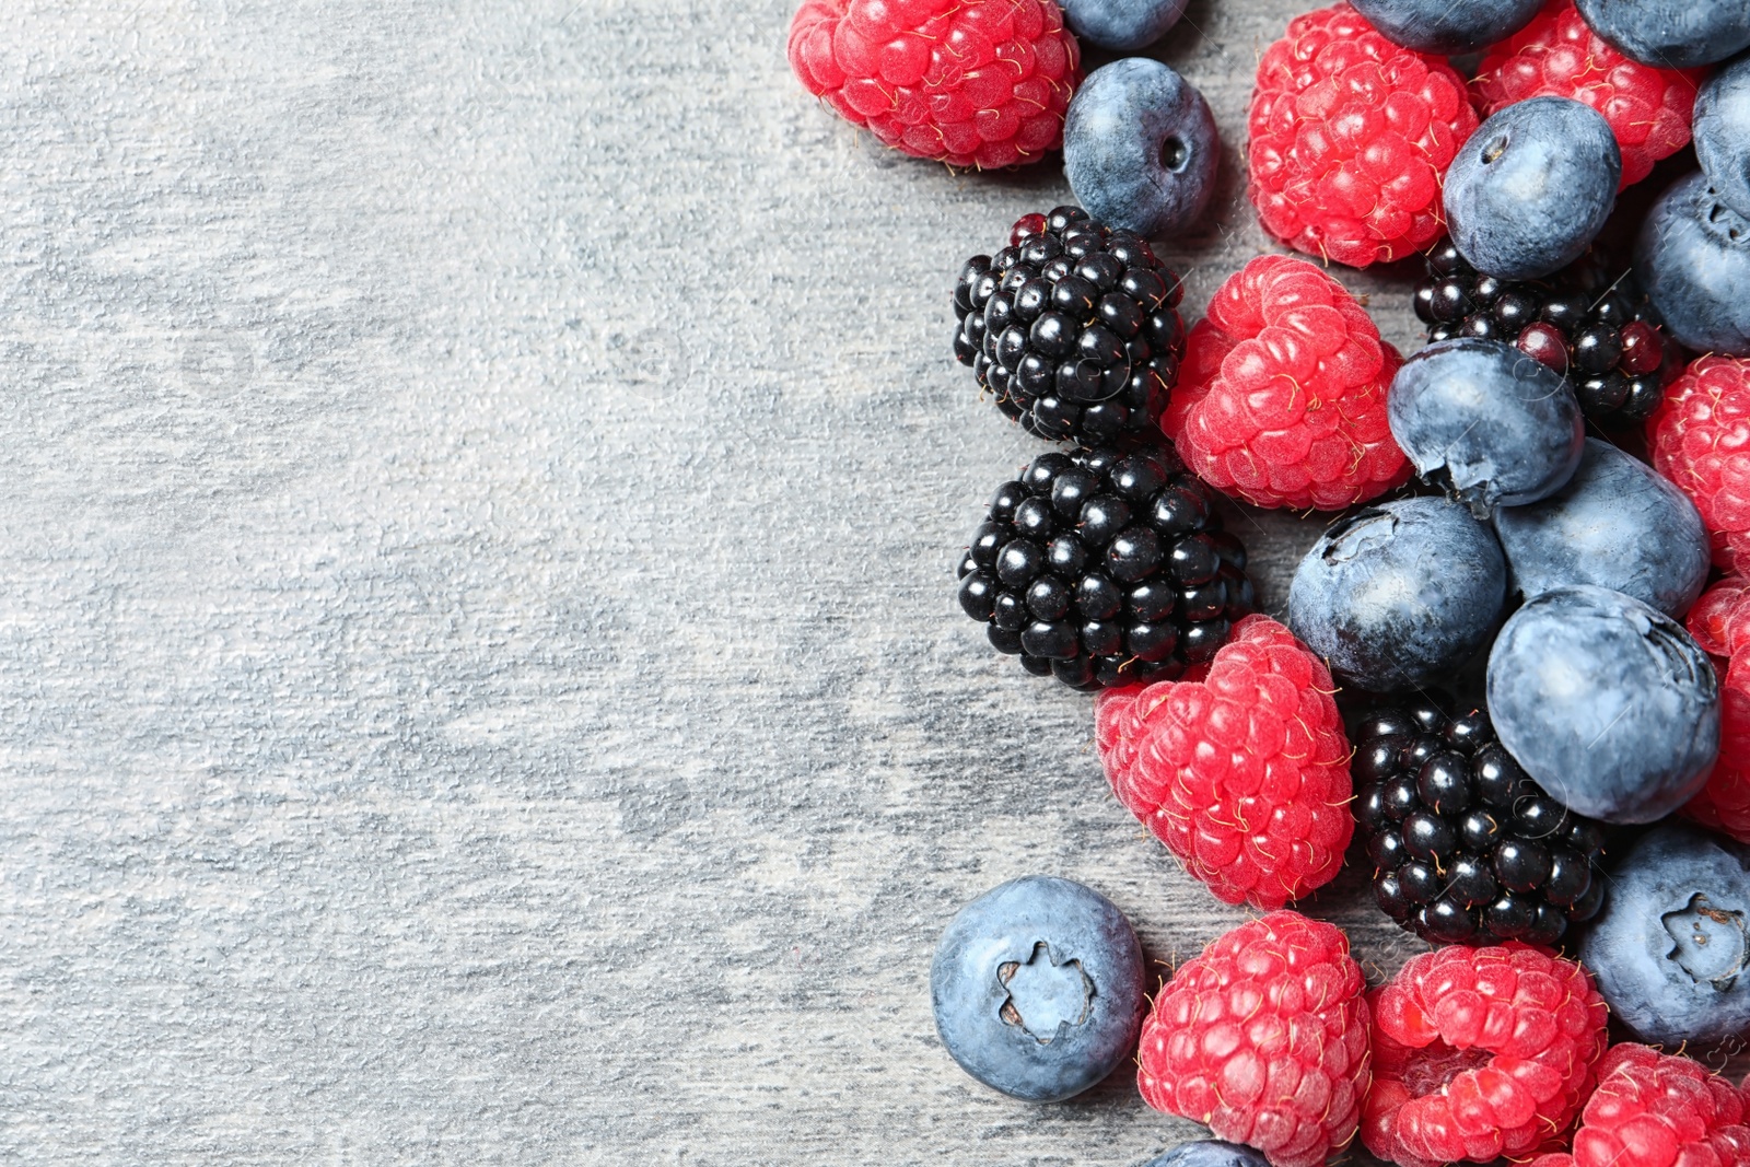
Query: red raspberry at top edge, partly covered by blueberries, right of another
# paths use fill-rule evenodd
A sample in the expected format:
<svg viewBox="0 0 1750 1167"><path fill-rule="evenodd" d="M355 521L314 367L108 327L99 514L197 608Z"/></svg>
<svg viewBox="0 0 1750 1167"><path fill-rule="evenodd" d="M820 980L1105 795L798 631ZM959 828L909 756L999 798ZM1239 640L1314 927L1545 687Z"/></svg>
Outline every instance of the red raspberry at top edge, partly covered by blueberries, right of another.
<svg viewBox="0 0 1750 1167"><path fill-rule="evenodd" d="M1704 70L1636 65L1587 28L1573 0L1550 0L1482 59L1472 93L1488 117L1526 98L1572 98L1605 115L1622 147L1622 185L1689 145Z"/></svg>

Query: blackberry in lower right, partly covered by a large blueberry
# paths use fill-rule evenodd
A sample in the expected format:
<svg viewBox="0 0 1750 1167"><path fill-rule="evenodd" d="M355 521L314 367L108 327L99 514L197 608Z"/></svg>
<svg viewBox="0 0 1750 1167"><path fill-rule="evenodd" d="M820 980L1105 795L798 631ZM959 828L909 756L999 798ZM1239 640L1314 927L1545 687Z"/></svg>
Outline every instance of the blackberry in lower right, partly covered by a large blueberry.
<svg viewBox="0 0 1750 1167"><path fill-rule="evenodd" d="M1419 696L1367 712L1351 735L1356 838L1374 898L1435 943L1556 947L1598 915L1605 828L1526 777L1484 712Z"/></svg>

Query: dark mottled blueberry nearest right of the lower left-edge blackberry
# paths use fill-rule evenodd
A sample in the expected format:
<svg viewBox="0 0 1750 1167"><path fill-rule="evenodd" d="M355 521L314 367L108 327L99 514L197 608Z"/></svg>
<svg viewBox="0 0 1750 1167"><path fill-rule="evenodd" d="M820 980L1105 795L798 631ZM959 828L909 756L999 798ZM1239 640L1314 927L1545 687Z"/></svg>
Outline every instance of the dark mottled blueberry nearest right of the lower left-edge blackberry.
<svg viewBox="0 0 1750 1167"><path fill-rule="evenodd" d="M1312 544L1288 588L1288 626L1372 693L1447 679L1489 642L1507 560L1488 525L1446 499L1362 507Z"/></svg>

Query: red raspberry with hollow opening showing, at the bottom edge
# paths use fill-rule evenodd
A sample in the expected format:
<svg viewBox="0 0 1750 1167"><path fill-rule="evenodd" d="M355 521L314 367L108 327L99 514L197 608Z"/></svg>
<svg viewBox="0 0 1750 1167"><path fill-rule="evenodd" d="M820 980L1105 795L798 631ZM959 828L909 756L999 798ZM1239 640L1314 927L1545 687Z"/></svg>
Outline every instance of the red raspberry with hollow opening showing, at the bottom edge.
<svg viewBox="0 0 1750 1167"><path fill-rule="evenodd" d="M1536 1151L1573 1122L1605 1052L1591 975L1519 943L1410 957L1368 1004L1362 1141L1402 1167Z"/></svg>

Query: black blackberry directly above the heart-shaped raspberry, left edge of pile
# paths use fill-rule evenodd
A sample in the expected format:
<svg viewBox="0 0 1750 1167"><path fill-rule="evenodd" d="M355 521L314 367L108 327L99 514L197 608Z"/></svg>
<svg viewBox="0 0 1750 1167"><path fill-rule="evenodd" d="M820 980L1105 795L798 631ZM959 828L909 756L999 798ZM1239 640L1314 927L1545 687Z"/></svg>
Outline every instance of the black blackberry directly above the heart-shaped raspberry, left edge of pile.
<svg viewBox="0 0 1750 1167"><path fill-rule="evenodd" d="M1087 691L1178 677L1256 604L1246 548L1166 448L1041 453L998 486L959 574L990 644Z"/></svg>

